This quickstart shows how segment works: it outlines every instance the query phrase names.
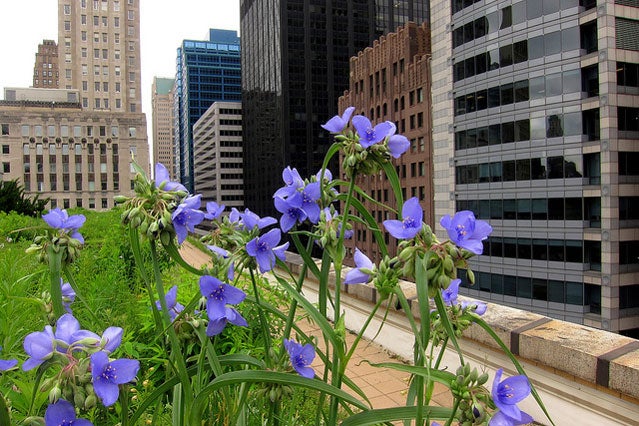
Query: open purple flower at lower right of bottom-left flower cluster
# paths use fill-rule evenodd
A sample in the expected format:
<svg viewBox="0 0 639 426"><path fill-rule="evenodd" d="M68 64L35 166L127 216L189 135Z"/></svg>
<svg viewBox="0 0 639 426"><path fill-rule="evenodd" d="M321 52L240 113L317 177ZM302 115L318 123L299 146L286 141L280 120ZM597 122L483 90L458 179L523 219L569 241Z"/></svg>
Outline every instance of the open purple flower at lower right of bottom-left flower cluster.
<svg viewBox="0 0 639 426"><path fill-rule="evenodd" d="M96 352L91 355L93 389L105 407L117 401L118 385L134 380L139 369L140 362L135 359L123 358L109 362L109 356L105 352Z"/></svg>

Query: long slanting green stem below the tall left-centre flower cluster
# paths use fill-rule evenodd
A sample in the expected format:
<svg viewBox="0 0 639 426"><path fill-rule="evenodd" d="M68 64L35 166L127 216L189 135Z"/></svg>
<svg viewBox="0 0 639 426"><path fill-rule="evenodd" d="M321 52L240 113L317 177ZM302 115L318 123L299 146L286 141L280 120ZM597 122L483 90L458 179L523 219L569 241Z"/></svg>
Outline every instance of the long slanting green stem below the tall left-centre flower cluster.
<svg viewBox="0 0 639 426"><path fill-rule="evenodd" d="M177 373L180 376L180 382L183 387L184 394L184 406L183 407L173 407L174 410L179 410L182 412L183 408L184 413L188 413L191 409L191 403L193 401L193 394L191 393L191 382L189 380L188 372L186 371L186 362L184 361L184 356L182 355L182 348L180 347L180 342L177 338L177 334L175 333L175 328L171 324L171 317L169 316L169 309L166 304L166 294L164 293L164 285L162 284L162 272L160 271L160 265L158 263L157 249L155 247L155 241L149 241L151 246L151 257L153 259L153 272L155 275L155 287L158 292L160 305L162 306L162 316L164 319L164 323L166 324L169 340L171 341L171 355L175 357ZM151 306L152 310L154 306ZM184 417L180 416L180 419ZM181 424L181 423L180 423Z"/></svg>

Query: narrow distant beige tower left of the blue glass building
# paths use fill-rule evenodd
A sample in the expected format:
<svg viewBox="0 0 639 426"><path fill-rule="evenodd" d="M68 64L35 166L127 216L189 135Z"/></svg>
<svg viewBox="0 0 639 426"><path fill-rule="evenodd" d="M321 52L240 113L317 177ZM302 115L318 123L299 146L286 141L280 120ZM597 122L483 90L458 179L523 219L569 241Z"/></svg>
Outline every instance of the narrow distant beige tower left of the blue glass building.
<svg viewBox="0 0 639 426"><path fill-rule="evenodd" d="M173 169L173 86L175 79L153 77L151 114L153 126L153 164L162 163L175 179Z"/></svg>

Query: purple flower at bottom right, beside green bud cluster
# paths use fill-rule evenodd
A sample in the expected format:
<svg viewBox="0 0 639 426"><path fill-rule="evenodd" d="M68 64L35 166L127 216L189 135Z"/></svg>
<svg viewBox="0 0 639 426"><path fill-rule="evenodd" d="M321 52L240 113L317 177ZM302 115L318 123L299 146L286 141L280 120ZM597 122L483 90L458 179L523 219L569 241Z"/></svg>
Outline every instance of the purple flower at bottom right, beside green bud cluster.
<svg viewBox="0 0 639 426"><path fill-rule="evenodd" d="M519 425L532 422L532 417L517 407L517 403L530 394L528 378L520 375L501 381L503 372L501 368L497 370L493 380L491 396L499 412L493 416L489 424L492 426Z"/></svg>

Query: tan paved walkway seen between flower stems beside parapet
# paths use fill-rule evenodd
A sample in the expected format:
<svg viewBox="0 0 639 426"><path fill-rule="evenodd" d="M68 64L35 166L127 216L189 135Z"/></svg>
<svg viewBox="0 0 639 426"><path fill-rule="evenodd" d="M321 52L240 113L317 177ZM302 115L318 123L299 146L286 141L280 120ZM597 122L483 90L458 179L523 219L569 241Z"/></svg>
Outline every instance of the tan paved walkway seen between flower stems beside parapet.
<svg viewBox="0 0 639 426"><path fill-rule="evenodd" d="M211 261L210 255L203 253L188 241L182 244L180 253L189 264L195 267L201 267ZM319 328L314 324L310 322L305 324L302 328L307 334L321 336ZM349 333L346 336L347 347L351 347L354 340L355 335ZM364 391L373 408L402 406L406 402L409 374L388 368L373 367L369 364L369 362L377 364L397 361L397 357L376 343L361 341L348 364L346 375ZM312 366L318 375L323 374L323 365L318 358L315 358ZM432 403L450 407L452 402L448 388L436 383Z"/></svg>

